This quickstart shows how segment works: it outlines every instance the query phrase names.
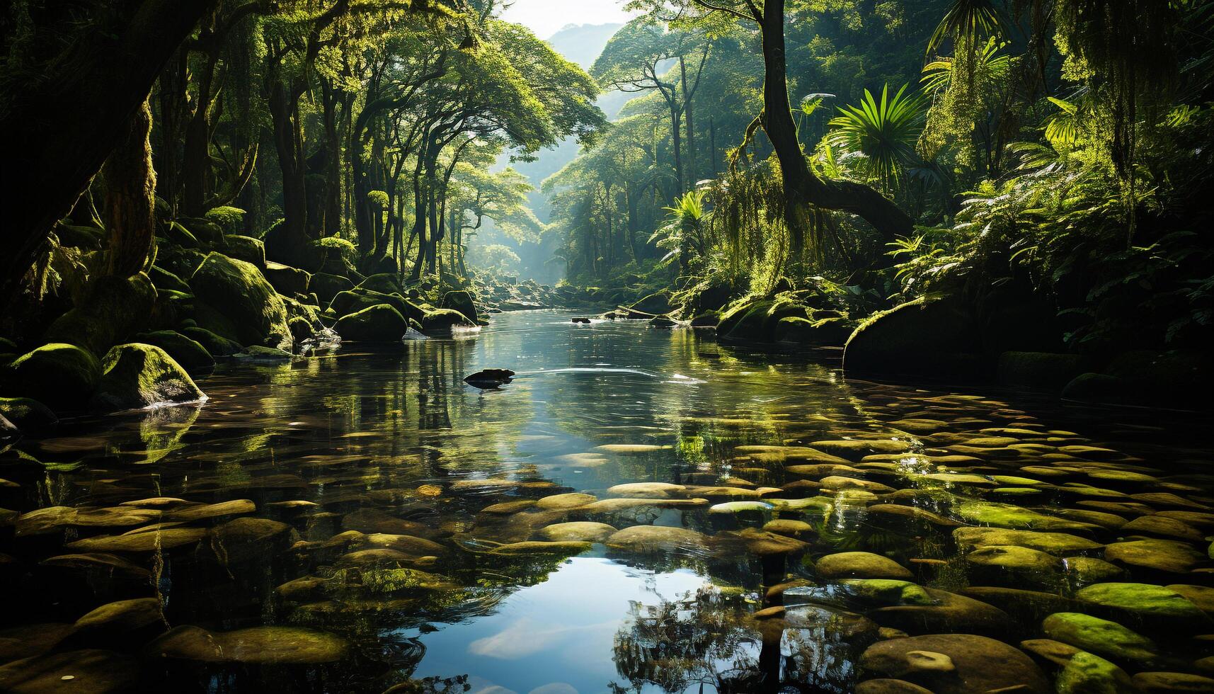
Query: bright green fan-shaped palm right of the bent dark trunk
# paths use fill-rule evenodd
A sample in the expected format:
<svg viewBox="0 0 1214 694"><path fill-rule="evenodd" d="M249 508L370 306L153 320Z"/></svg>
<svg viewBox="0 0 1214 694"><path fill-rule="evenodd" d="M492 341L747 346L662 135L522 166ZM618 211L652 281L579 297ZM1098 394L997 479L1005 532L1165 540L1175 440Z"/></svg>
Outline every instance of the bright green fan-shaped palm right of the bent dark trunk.
<svg viewBox="0 0 1214 694"><path fill-rule="evenodd" d="M830 120L832 143L868 158L868 167L889 187L894 179L917 160L915 141L923 132L927 98L923 92L908 95L907 85L890 98L890 85L881 89L881 100L864 90L860 106L839 108Z"/></svg>

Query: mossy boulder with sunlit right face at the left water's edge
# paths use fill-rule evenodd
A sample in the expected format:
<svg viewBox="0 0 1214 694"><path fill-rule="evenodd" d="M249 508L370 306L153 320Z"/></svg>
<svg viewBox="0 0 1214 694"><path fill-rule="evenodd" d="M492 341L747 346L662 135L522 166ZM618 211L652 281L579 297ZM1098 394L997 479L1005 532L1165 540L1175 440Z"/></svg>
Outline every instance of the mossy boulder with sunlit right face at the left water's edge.
<svg viewBox="0 0 1214 694"><path fill-rule="evenodd" d="M102 377L92 406L112 412L158 402L191 402L205 397L186 369L163 349L142 343L118 345L102 360Z"/></svg>

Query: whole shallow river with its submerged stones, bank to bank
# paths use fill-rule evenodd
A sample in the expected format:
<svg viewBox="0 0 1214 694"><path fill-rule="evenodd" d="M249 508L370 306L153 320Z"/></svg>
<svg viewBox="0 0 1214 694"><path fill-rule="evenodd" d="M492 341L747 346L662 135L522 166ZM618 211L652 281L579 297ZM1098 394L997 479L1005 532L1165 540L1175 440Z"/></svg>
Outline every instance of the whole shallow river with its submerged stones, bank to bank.
<svg viewBox="0 0 1214 694"><path fill-rule="evenodd" d="M1214 684L1208 417L572 315L0 453L0 690Z"/></svg>

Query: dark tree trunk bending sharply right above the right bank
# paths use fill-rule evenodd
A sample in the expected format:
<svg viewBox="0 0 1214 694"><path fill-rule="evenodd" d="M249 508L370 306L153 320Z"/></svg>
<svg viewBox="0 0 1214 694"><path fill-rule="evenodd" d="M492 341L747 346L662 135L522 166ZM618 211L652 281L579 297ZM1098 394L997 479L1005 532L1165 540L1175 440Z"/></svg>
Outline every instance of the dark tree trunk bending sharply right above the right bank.
<svg viewBox="0 0 1214 694"><path fill-rule="evenodd" d="M914 221L889 198L852 181L822 180L810 170L796 140L788 101L788 64L784 53L784 0L766 0L762 9L764 111L762 129L779 159L784 184L784 224L794 255L805 248L805 230L812 224L810 205L858 215L886 241L909 236Z"/></svg>

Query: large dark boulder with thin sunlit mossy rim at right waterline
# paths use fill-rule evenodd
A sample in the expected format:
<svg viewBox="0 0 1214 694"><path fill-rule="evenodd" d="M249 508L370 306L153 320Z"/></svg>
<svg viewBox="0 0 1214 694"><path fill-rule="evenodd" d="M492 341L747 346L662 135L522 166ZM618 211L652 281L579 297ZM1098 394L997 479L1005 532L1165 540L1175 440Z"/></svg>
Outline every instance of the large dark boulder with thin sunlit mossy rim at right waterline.
<svg viewBox="0 0 1214 694"><path fill-rule="evenodd" d="M980 352L965 301L920 298L861 322L847 338L844 371L975 378L987 368Z"/></svg>

